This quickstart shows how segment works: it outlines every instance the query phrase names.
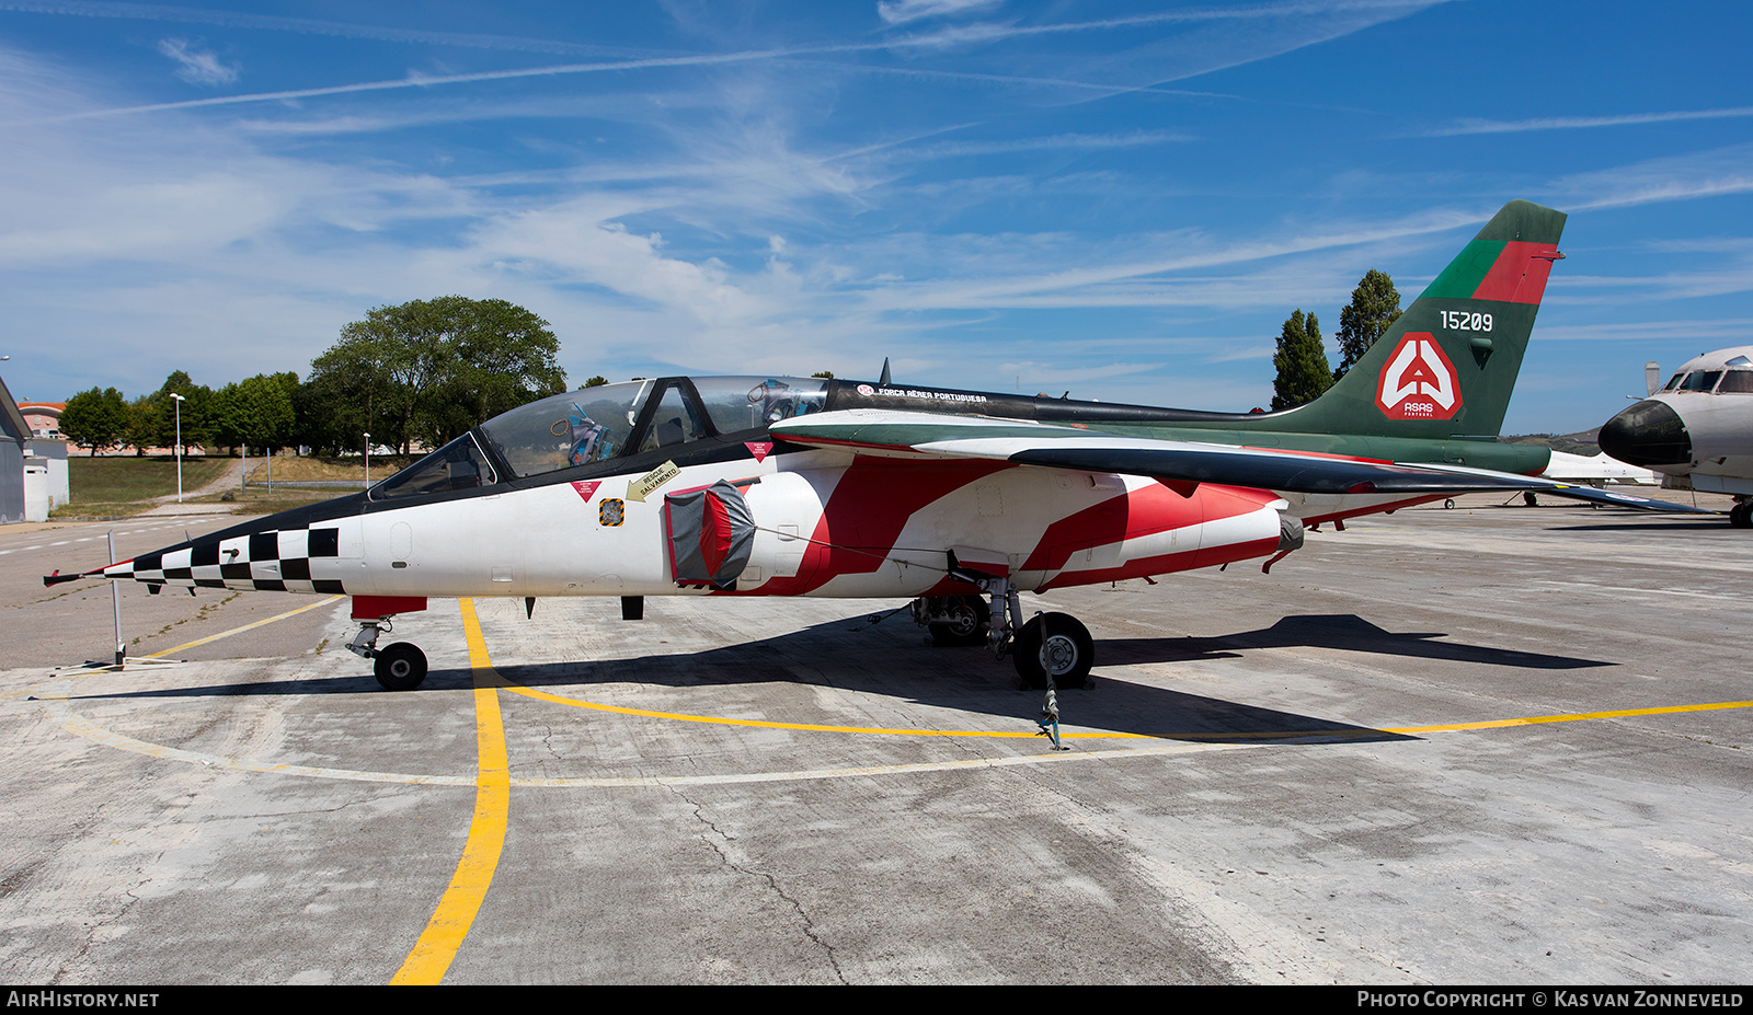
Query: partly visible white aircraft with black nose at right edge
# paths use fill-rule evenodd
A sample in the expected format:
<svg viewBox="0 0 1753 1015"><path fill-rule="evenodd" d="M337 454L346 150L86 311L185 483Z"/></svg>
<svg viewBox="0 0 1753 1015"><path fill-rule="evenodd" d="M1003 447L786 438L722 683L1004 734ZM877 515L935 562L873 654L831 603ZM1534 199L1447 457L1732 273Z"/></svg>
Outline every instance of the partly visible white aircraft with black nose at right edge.
<svg viewBox="0 0 1753 1015"><path fill-rule="evenodd" d="M1753 528L1753 345L1688 359L1667 386L1602 424L1599 442L1620 461L1660 472L1669 489L1734 494L1728 522Z"/></svg>

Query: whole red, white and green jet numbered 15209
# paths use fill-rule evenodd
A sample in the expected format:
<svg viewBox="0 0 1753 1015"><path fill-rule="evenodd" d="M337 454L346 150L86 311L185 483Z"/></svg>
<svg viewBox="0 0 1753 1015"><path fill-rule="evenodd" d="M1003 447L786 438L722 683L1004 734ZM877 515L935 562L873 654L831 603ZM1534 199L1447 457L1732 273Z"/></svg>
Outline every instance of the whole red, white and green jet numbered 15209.
<svg viewBox="0 0 1753 1015"><path fill-rule="evenodd" d="M1215 414L796 377L664 377L489 419L365 493L79 577L352 596L387 689L426 656L379 649L428 598L913 600L940 643L1078 685L1082 622L1047 593L1269 557L1304 526L1478 489L1548 489L1544 449L1497 444L1564 216L1506 205L1320 400Z"/></svg>

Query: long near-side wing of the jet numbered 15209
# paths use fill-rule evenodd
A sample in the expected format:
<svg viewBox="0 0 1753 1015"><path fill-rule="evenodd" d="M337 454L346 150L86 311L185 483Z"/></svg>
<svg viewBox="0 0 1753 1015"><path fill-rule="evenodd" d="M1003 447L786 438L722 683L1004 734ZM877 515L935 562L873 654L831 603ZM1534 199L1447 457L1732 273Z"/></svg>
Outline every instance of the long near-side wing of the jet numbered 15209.
<svg viewBox="0 0 1753 1015"><path fill-rule="evenodd" d="M787 419L777 422L773 433L794 444L843 447L861 454L976 458L1013 465L1143 475L1176 489L1201 482L1322 494L1450 494L1537 489L1558 496L1651 510L1683 508L1683 505L1608 494L1593 487L1481 468L1402 465L1229 444L1125 437L985 415L850 408Z"/></svg>

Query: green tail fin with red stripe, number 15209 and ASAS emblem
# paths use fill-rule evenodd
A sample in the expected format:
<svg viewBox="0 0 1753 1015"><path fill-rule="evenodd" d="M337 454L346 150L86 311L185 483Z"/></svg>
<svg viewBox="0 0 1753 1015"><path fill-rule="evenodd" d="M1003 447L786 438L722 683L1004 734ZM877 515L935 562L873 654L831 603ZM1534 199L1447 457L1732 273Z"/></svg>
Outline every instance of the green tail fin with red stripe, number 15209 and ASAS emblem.
<svg viewBox="0 0 1753 1015"><path fill-rule="evenodd" d="M1564 212L1509 202L1357 365L1273 429L1495 437L1522 370Z"/></svg>

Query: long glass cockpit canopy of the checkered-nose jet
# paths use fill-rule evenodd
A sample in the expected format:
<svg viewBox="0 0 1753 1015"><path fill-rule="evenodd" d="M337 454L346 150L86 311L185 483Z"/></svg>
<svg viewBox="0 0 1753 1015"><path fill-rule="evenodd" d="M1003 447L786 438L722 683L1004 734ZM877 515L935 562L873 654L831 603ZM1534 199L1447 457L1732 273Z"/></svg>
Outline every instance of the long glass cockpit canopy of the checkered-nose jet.
<svg viewBox="0 0 1753 1015"><path fill-rule="evenodd" d="M664 377L580 387L494 415L370 491L372 500L496 486L820 412L820 377Z"/></svg>

